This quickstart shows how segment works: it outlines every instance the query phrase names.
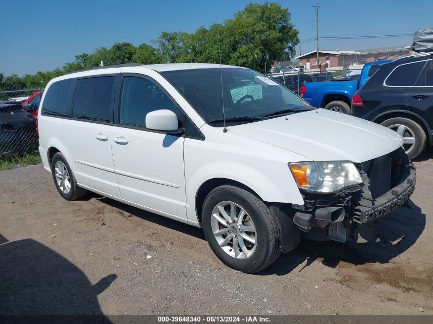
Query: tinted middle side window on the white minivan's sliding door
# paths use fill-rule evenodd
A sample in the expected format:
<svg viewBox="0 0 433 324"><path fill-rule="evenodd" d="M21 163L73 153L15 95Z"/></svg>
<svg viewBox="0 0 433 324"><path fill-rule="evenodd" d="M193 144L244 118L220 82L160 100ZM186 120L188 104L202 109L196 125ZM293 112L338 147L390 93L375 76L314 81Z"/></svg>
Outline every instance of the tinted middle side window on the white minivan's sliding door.
<svg viewBox="0 0 433 324"><path fill-rule="evenodd" d="M110 122L114 76L78 79L75 88L73 117Z"/></svg>

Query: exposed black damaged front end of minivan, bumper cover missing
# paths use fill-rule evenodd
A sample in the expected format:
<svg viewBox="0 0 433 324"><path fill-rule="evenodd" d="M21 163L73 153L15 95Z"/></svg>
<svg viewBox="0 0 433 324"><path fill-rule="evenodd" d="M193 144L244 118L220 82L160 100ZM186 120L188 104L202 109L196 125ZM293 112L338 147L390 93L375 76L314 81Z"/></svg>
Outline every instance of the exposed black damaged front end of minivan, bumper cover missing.
<svg viewBox="0 0 433 324"><path fill-rule="evenodd" d="M381 179L374 174L374 164L383 171L386 159L389 160L388 180L393 180L388 186L392 188L382 193L377 189L383 186L378 184ZM369 161L367 167L362 167L359 166L363 184L327 195L304 192L305 204L292 205L293 223L302 231L302 236L319 241L357 241L362 225L374 223L402 206L415 190L415 166L401 150Z"/></svg>

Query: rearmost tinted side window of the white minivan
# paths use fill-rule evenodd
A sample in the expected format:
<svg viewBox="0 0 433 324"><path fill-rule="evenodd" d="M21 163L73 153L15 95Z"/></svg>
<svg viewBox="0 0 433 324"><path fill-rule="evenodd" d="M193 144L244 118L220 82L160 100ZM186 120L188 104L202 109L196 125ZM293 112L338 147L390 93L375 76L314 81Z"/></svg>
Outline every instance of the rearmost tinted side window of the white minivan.
<svg viewBox="0 0 433 324"><path fill-rule="evenodd" d="M43 115L71 117L74 84L75 79L61 80L51 84L42 103L41 113Z"/></svg>

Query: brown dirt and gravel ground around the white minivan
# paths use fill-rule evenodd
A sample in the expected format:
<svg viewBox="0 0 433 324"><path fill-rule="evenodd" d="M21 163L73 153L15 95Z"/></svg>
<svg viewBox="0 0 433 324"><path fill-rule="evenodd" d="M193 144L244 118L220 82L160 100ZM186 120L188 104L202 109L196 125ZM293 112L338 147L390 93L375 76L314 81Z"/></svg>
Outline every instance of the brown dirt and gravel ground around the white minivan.
<svg viewBox="0 0 433 324"><path fill-rule="evenodd" d="M432 157L379 242L303 240L254 275L224 266L199 228L65 201L42 165L0 172L0 314L433 314Z"/></svg>

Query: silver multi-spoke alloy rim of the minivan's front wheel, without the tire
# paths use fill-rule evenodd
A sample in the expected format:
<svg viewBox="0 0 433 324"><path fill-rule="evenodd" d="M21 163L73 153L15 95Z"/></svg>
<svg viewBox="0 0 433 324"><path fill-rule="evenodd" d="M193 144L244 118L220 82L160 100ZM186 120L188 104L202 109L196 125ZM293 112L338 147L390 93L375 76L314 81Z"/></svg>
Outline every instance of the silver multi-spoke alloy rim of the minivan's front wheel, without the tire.
<svg viewBox="0 0 433 324"><path fill-rule="evenodd" d="M244 259L256 250L256 227L248 213L231 201L218 203L212 211L212 232L221 249Z"/></svg>

